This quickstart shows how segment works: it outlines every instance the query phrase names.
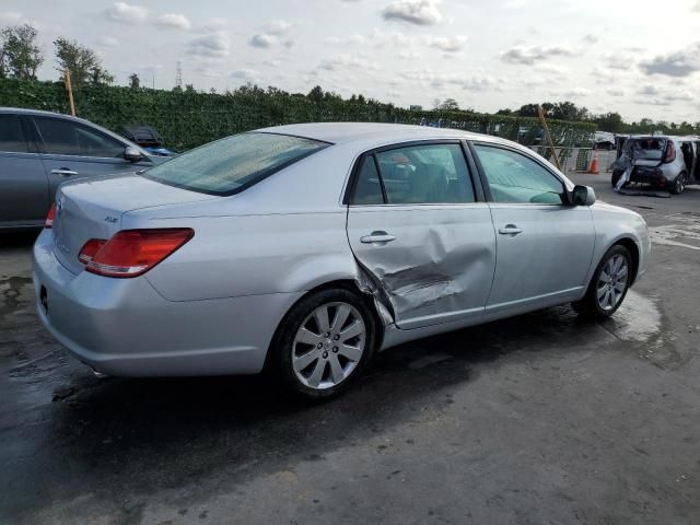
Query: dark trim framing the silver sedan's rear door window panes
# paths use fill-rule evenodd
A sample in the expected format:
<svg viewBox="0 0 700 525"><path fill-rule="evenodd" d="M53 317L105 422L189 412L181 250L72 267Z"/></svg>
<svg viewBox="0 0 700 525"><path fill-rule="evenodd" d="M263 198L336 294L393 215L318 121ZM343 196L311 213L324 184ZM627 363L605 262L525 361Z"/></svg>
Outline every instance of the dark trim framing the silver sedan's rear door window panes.
<svg viewBox="0 0 700 525"><path fill-rule="evenodd" d="M380 170L380 163L376 160L376 153L384 153L385 151L392 151L392 150L400 150L404 148L415 148L418 145L447 145L447 144L457 144L459 145L459 149L462 150L462 154L464 156L464 161L465 161L465 165L467 166L467 174L469 177L469 182L471 183L471 189L474 192L474 201L472 202L398 202L398 203L390 203L388 202L387 196L386 196L386 189L384 187L384 176L382 175L382 171ZM364 162L364 159L368 156L373 156L374 158L374 163L376 166L376 171L380 175L380 184L382 185L382 198L384 200L384 202L382 202L381 205L353 205L352 203L352 196L354 195L354 191L357 189L358 186L358 182L360 178L360 170L362 167L362 163ZM347 206L347 207L375 207L375 206L390 206L390 207L407 207L407 206L468 206L468 205L475 205L478 202L482 202L485 201L485 196L483 192L481 191L480 188L480 184L478 185L477 182L475 180L475 176L478 177L478 174L475 170L475 165L472 164L472 162L470 162L470 155L468 154L468 152L465 149L465 141L464 139L425 139L425 140L411 140L411 141L407 141L407 142L395 142L392 144L386 144L386 145L380 145L377 148L372 148L370 150L366 150L364 152L362 152L360 155L358 155L358 158L354 161L354 164L352 166L352 170L350 172L350 178L348 180L348 184L346 185L346 189L343 192L343 197L342 197L342 205Z"/></svg>

